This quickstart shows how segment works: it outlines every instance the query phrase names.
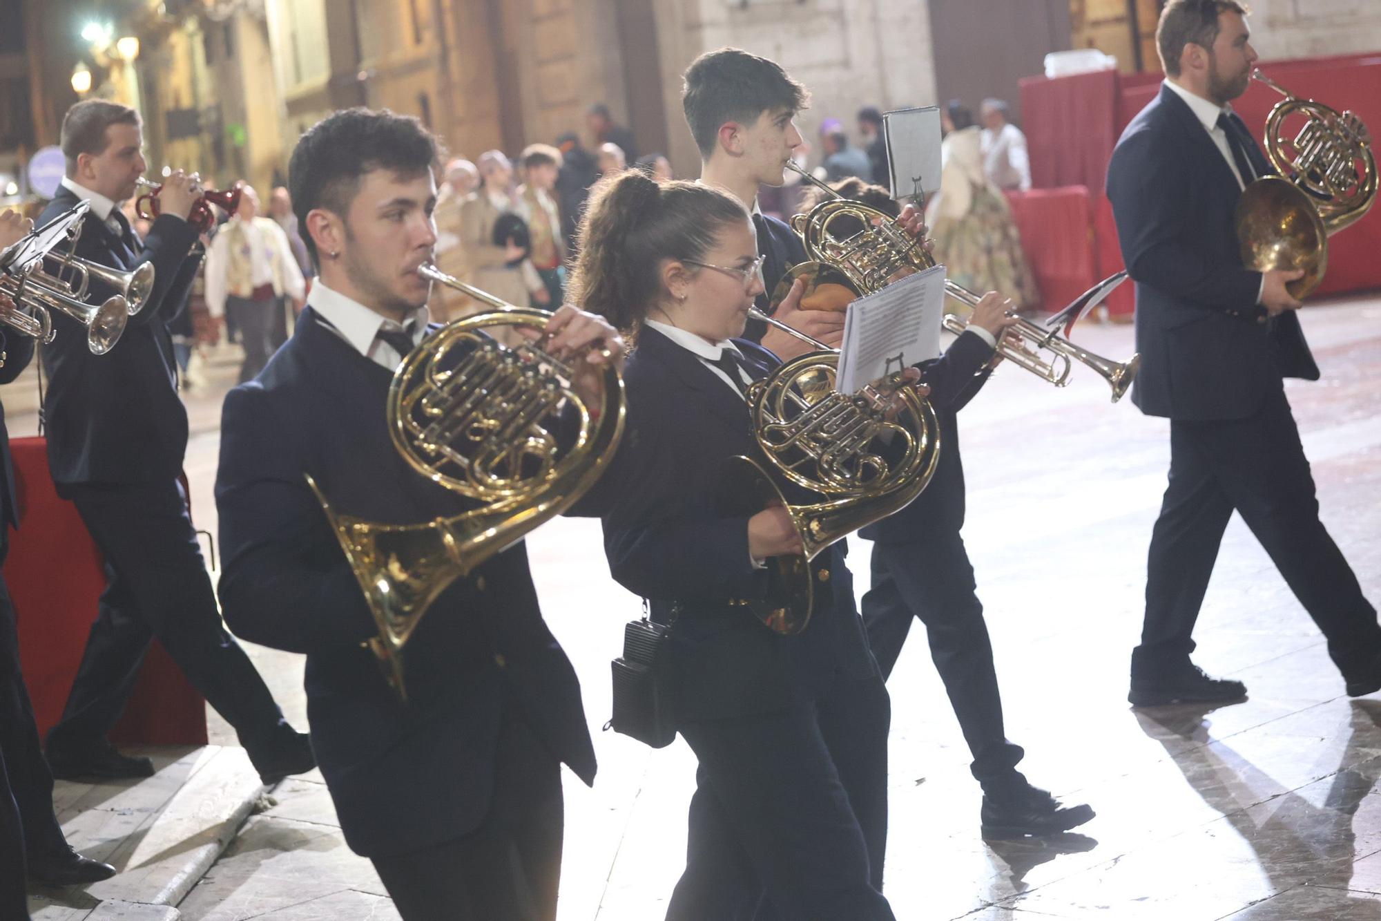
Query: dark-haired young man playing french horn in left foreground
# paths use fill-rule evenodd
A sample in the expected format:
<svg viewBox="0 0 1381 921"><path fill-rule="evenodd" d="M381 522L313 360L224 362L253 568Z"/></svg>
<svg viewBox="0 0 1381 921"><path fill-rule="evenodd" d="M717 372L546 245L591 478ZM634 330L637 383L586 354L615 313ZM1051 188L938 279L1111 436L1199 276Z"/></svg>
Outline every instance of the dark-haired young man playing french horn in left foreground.
<svg viewBox="0 0 1381 921"><path fill-rule="evenodd" d="M319 268L297 331L232 390L215 484L225 618L307 654L312 744L349 846L399 913L555 917L561 763L586 783L594 750L580 686L541 620L518 543L457 578L402 651L403 701L362 643L370 610L304 474L342 514L414 524L474 508L394 448L394 371L427 335L436 242L432 136L412 118L348 109L298 141L293 207ZM566 307L552 348L621 343Z"/></svg>

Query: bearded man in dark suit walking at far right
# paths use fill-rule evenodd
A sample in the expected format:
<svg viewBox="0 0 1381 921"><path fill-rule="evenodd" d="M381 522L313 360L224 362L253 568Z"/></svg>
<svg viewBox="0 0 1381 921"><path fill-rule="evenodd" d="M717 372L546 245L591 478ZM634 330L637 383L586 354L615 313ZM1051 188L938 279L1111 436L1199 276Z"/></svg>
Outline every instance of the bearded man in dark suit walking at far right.
<svg viewBox="0 0 1381 921"><path fill-rule="evenodd" d="M1271 171L1228 105L1257 53L1244 7L1171 0L1157 43L1166 82L1113 152L1108 195L1137 282L1141 373L1132 402L1170 419L1170 487L1152 532L1146 618L1130 700L1230 701L1237 680L1190 662L1192 632L1224 528L1242 514L1329 640L1346 691L1381 689L1381 628L1319 521L1309 462L1282 378L1319 379L1286 282L1243 267L1242 189Z"/></svg>

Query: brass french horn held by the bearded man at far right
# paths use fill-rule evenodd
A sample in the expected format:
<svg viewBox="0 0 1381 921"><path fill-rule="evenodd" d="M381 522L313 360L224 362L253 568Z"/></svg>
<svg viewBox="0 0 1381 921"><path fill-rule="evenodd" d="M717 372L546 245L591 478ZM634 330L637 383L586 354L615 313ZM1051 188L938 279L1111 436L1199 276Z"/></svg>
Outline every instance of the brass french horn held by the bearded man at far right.
<svg viewBox="0 0 1381 921"><path fill-rule="evenodd" d="M1302 278L1286 285L1294 297L1304 299L1329 268L1329 238L1360 220L1375 202L1371 136L1353 112L1301 100L1259 69L1251 76L1284 98L1266 116L1265 136L1266 156L1280 176L1253 181L1237 202L1242 260L1261 272L1304 270ZM1291 136L1286 120L1293 116L1304 122Z"/></svg>

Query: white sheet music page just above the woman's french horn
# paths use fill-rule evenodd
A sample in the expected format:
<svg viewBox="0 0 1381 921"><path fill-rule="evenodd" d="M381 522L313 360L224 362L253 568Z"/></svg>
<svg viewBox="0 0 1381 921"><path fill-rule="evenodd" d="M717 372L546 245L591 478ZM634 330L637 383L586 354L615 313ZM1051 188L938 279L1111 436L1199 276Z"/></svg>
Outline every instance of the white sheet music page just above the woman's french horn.
<svg viewBox="0 0 1381 921"><path fill-rule="evenodd" d="M878 378L940 354L945 267L907 275L859 297L844 317L834 389L858 393Z"/></svg>

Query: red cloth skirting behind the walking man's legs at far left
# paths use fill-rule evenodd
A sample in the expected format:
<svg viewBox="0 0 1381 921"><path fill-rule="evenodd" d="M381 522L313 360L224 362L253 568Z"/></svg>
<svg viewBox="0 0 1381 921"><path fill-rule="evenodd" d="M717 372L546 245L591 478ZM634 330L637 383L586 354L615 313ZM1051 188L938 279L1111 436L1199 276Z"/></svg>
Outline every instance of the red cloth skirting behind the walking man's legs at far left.
<svg viewBox="0 0 1381 921"><path fill-rule="evenodd" d="M105 589L101 552L76 508L58 498L43 438L15 438L18 532L4 578L19 622L19 660L39 732L62 715ZM206 703L155 640L124 716L110 733L123 744L206 744Z"/></svg>

